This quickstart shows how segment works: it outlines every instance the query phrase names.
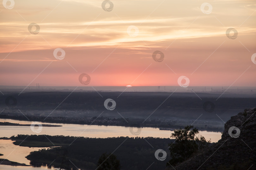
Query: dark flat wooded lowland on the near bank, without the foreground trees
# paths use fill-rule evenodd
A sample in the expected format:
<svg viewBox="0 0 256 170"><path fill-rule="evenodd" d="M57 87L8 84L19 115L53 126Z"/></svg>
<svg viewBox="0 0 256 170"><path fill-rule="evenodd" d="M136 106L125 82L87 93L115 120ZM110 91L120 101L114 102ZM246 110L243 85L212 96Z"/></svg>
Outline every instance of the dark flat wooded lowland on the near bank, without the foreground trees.
<svg viewBox="0 0 256 170"><path fill-rule="evenodd" d="M59 143L63 146L31 152L26 158L31 160L33 166L49 165L55 160L52 163L54 167L59 167L61 163L64 163L74 169L78 167L94 170L97 168L97 161L103 153L113 153L120 160L122 169L147 169L153 162L150 169L165 169L169 156L165 161L158 161L154 154L157 149L168 151L168 143L174 141L174 139L153 137L76 138L49 135L46 135L46 137L53 143ZM44 135L30 135L28 137L27 135L17 135L12 139L24 140L26 138L24 142L31 142L30 146L37 142L39 144L46 142L50 145L51 142L46 137Z"/></svg>

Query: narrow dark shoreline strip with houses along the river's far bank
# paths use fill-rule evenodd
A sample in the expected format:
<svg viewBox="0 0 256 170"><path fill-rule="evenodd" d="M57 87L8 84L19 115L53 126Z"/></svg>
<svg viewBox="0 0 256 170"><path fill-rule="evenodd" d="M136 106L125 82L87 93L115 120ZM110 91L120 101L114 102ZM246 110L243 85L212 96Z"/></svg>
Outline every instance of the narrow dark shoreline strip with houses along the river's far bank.
<svg viewBox="0 0 256 170"><path fill-rule="evenodd" d="M82 124L82 125L100 125L100 126L125 126L125 127L157 127L157 128L180 128L184 127L187 124L192 124L194 121L168 121L168 120L147 120L144 123L143 119L134 119L126 118L125 121L123 118L109 118L109 117L91 117L91 118L77 118L77 117L46 117L44 116L21 116L21 115L0 115L2 119L14 119L27 121L27 118L30 121L36 122L48 122L48 123L66 123L66 124ZM177 125L176 125L177 124ZM0 124L1 125L1 124ZM29 125L30 126L30 125ZM57 125L55 125L57 126ZM212 132L222 132L223 127L216 126L205 126L204 122L197 122L195 125L196 128L202 131L212 131ZM162 130L162 129L161 129Z"/></svg>

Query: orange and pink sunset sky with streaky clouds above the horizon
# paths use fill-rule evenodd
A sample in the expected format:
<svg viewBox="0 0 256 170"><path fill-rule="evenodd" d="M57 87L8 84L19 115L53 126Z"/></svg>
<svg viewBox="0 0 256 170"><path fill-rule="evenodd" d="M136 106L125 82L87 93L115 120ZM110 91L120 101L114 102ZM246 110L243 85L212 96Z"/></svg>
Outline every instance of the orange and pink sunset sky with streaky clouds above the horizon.
<svg viewBox="0 0 256 170"><path fill-rule="evenodd" d="M1 0L0 85L255 87L255 11L253 0Z"/></svg>

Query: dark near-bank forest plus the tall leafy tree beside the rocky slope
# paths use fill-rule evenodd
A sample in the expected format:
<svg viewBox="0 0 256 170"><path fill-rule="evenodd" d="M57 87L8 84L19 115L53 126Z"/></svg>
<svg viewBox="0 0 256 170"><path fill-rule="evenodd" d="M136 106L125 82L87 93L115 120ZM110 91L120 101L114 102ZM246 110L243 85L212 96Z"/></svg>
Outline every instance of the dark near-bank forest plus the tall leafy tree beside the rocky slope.
<svg viewBox="0 0 256 170"><path fill-rule="evenodd" d="M198 129L186 126L171 133L172 139L114 137L84 138L73 136L17 135L14 144L51 147L32 151L26 157L33 166L51 165L65 169L165 169L185 161L213 143L198 136ZM50 143L51 142L51 143ZM168 150L170 152L168 152ZM169 161L168 161L169 160ZM70 164L71 163L71 164ZM147 166L149 166L147 168Z"/></svg>

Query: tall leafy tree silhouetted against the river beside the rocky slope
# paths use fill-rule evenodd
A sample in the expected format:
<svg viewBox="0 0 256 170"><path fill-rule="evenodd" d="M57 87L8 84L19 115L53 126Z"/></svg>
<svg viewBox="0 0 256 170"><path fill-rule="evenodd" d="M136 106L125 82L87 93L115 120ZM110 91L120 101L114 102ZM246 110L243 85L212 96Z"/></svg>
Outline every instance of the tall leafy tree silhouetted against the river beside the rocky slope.
<svg viewBox="0 0 256 170"><path fill-rule="evenodd" d="M193 153L208 146L210 140L206 141L201 135L196 137L196 134L199 133L198 129L192 128L193 126L186 126L184 129L174 130L174 133L171 134L171 138L175 138L175 141L168 144L171 160L167 163L167 166L183 162Z"/></svg>

